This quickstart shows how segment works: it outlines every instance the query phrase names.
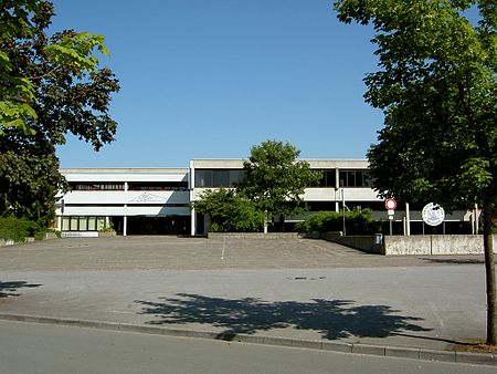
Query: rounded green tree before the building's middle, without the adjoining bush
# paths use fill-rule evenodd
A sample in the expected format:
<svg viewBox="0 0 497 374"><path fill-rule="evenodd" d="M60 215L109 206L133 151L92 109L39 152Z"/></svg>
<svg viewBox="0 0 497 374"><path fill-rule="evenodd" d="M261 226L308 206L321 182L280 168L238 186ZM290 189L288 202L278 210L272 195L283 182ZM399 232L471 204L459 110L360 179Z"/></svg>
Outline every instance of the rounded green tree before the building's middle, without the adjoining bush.
<svg viewBox="0 0 497 374"><path fill-rule="evenodd" d="M257 205L266 215L266 221L279 221L296 215L305 208L302 199L305 188L321 178L309 164L297 160L300 152L292 144L266 141L251 148L248 160L244 162L246 179L239 190Z"/></svg>

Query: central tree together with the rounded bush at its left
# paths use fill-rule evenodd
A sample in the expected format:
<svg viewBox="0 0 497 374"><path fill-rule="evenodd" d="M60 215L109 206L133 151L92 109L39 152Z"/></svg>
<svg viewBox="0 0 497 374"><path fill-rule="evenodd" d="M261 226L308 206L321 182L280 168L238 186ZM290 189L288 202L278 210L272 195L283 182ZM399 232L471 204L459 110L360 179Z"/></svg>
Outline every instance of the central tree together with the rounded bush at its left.
<svg viewBox="0 0 497 374"><path fill-rule="evenodd" d="M300 198L306 186L321 175L297 162L299 150L289 143L267 141L251 149L244 163L246 179L236 189L208 190L194 204L195 211L211 217L212 231L261 231L264 221L305 210Z"/></svg>

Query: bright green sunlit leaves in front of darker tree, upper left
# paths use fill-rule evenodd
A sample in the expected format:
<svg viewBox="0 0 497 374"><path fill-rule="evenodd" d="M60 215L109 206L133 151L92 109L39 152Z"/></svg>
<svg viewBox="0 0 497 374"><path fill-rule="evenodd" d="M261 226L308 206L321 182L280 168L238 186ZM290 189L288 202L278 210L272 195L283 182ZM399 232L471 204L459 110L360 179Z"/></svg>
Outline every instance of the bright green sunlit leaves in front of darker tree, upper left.
<svg viewBox="0 0 497 374"><path fill-rule="evenodd" d="M36 121L36 87L39 81L57 70L68 70L82 77L94 72L98 59L94 51L108 54L104 37L88 32L64 32L50 41L42 30L50 24L53 6L43 0L6 0L0 13L0 136L6 128L19 128L25 135L34 135L30 124ZM31 58L42 56L50 69L22 71L12 48L29 51ZM31 44L31 45L30 45ZM33 55L33 50L38 55ZM50 73L49 73L50 72Z"/></svg>

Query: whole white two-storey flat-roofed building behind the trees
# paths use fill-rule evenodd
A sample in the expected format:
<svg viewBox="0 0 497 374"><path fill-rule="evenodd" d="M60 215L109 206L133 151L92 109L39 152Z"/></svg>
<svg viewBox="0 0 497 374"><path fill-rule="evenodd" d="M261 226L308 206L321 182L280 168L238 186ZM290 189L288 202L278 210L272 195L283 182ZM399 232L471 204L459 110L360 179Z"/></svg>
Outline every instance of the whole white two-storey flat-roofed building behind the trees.
<svg viewBox="0 0 497 374"><path fill-rule="evenodd" d="M322 173L320 184L304 195L310 211L339 211L345 204L387 218L383 200L371 189L367 160L307 162ZM106 228L124 236L203 235L209 224L192 202L205 189L232 187L245 176L242 159L192 159L188 168L66 168L61 173L71 190L56 210L56 228L66 236L96 236ZM410 217L421 231L420 208L413 207ZM395 220L402 219L399 211ZM457 230L468 226L470 217L456 212L446 220Z"/></svg>

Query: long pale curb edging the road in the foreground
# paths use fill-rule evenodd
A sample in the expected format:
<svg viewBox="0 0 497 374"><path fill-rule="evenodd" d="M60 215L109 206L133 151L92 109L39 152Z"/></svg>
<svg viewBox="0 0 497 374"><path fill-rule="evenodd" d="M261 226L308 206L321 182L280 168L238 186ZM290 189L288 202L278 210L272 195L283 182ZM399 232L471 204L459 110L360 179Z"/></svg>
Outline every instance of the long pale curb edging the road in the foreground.
<svg viewBox="0 0 497 374"><path fill-rule="evenodd" d="M352 354L368 354L387 357L415 359L415 360L438 361L438 362L458 362L458 363L497 366L497 354L494 353L440 351L421 347L403 347L403 346L388 346L388 345L382 346L382 345L343 343L334 341L307 341L288 337L256 336L235 333L215 333L209 331L167 329L167 328L144 326L118 322L87 321L87 320L74 320L74 319L23 315L23 314L0 313L0 320L59 324L66 326L103 329L110 331L138 332L155 335L211 339L226 342L292 346L299 349L332 351Z"/></svg>

